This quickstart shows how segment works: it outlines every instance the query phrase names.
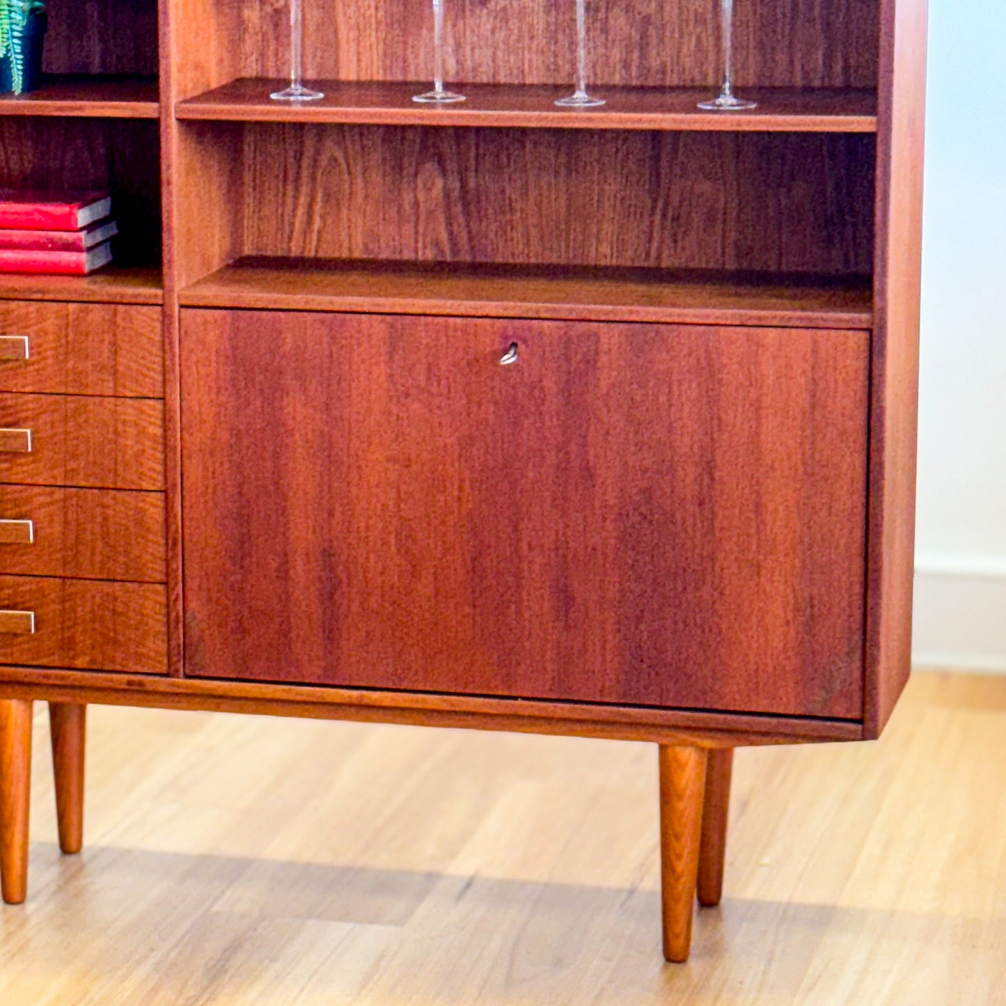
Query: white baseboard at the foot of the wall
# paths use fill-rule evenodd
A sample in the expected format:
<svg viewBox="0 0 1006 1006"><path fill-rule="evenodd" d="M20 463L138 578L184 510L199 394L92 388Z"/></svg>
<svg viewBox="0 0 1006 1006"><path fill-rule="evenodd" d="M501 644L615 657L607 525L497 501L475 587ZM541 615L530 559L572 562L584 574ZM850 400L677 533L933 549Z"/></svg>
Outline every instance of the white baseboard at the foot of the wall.
<svg viewBox="0 0 1006 1006"><path fill-rule="evenodd" d="M1006 560L915 556L911 662L1006 673Z"/></svg>

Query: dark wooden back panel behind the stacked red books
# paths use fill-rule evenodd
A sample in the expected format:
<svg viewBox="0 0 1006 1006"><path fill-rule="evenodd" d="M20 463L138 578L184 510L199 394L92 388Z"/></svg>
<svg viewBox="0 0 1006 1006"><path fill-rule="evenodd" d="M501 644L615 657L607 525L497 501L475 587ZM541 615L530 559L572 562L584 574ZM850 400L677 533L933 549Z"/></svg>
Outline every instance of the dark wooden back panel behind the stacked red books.
<svg viewBox="0 0 1006 1006"><path fill-rule="evenodd" d="M160 146L153 120L0 116L0 188L108 189L119 222L115 261L161 261Z"/></svg>

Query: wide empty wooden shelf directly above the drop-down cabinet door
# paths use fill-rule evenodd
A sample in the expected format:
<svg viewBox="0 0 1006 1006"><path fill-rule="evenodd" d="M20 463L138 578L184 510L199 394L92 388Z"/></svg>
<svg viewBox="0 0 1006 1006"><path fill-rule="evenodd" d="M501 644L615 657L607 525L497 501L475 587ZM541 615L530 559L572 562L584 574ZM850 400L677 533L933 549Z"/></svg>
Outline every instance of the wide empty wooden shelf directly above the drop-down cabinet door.
<svg viewBox="0 0 1006 1006"><path fill-rule="evenodd" d="M189 307L869 328L868 278L551 266L238 259L183 290Z"/></svg>

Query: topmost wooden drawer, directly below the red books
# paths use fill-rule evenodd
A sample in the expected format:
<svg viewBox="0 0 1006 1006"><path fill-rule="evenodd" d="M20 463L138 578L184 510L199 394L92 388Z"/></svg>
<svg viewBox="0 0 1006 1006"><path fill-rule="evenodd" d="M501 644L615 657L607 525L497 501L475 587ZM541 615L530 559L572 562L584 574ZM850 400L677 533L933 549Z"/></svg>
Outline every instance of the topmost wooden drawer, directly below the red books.
<svg viewBox="0 0 1006 1006"><path fill-rule="evenodd" d="M0 391L163 397L161 309L0 301Z"/></svg>

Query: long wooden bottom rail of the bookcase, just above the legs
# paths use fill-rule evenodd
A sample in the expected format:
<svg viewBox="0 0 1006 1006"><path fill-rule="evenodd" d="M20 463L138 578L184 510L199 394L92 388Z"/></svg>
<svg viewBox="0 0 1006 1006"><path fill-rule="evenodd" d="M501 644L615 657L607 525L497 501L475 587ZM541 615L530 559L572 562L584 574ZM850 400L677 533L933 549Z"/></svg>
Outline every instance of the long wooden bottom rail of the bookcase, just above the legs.
<svg viewBox="0 0 1006 1006"><path fill-rule="evenodd" d="M435 692L278 685L197 678L0 666L0 695L79 704L135 705L302 719L344 719L462 729L514 730L611 740L723 747L858 740L842 719L543 702Z"/></svg>

